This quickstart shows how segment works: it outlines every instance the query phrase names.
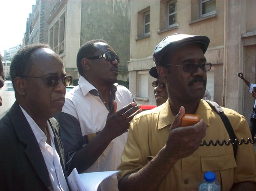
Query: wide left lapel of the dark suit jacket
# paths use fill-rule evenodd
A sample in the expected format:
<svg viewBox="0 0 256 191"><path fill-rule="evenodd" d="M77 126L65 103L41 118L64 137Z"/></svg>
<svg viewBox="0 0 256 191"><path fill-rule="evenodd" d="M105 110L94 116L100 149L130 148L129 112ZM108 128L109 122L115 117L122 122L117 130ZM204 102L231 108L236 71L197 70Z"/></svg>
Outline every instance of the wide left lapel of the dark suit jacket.
<svg viewBox="0 0 256 191"><path fill-rule="evenodd" d="M40 147L17 101L14 102L13 106L9 110L9 116L19 140L27 146L25 153L29 161L43 183L49 188L49 190L53 190L53 186L49 178L49 172L44 162L44 157L41 153Z"/></svg>

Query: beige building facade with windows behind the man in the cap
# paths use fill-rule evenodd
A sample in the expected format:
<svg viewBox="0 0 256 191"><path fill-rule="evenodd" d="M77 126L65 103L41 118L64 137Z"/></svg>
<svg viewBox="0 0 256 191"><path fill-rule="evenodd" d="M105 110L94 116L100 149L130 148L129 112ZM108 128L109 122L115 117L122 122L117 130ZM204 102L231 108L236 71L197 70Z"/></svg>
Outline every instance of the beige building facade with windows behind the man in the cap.
<svg viewBox="0 0 256 191"><path fill-rule="evenodd" d="M256 83L255 0L132 0L131 7L129 89L138 103L155 104L148 71L156 45L175 33L205 35L212 101L249 119L254 99L236 73Z"/></svg>

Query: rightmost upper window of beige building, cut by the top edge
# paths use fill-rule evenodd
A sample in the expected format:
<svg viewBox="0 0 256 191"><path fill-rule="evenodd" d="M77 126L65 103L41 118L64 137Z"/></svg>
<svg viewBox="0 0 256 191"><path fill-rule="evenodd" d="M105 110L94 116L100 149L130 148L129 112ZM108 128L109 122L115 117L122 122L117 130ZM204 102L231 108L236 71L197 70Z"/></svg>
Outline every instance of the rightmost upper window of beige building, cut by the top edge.
<svg viewBox="0 0 256 191"><path fill-rule="evenodd" d="M216 13L216 0L200 0L200 17Z"/></svg>

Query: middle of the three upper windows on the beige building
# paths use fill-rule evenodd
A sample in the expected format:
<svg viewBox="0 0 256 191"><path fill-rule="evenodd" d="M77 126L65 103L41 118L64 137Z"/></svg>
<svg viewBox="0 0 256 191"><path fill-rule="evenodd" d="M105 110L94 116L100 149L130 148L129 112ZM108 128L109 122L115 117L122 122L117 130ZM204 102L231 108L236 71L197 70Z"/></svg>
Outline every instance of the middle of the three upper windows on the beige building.
<svg viewBox="0 0 256 191"><path fill-rule="evenodd" d="M177 0L167 2L167 28L177 23Z"/></svg>

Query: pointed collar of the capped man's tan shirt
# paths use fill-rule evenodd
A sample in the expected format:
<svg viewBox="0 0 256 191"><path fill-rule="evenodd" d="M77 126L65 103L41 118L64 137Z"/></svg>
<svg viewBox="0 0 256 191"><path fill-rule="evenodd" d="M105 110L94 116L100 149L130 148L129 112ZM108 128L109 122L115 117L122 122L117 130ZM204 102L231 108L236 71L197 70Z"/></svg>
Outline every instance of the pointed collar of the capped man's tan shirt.
<svg viewBox="0 0 256 191"><path fill-rule="evenodd" d="M158 128L162 129L163 127L171 126L175 115L172 114L172 110L169 104L169 100L163 103L161 106L158 107L160 110L159 112L159 119L158 119ZM199 105L196 109L195 114L200 116L200 119L204 120L204 123L209 126L209 112L208 110L212 110L211 106L203 99L199 101ZM177 114L176 114L177 115Z"/></svg>

